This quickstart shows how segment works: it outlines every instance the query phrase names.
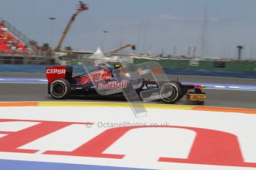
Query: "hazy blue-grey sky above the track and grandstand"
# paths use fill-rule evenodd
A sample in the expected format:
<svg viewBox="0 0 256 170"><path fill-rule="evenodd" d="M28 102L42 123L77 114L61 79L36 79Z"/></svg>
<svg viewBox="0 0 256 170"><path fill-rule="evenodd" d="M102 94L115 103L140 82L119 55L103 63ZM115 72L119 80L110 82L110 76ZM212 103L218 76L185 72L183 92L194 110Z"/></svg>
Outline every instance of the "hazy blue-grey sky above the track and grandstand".
<svg viewBox="0 0 256 170"><path fill-rule="evenodd" d="M39 44L49 43L54 48L77 2L0 0L0 18ZM96 47L112 50L136 44L137 53L164 55L188 55L188 47L196 47L200 56L203 39L206 56L235 58L237 45L243 45L243 58L256 58L255 0L84 2L89 10L76 17L62 47L94 51Z"/></svg>

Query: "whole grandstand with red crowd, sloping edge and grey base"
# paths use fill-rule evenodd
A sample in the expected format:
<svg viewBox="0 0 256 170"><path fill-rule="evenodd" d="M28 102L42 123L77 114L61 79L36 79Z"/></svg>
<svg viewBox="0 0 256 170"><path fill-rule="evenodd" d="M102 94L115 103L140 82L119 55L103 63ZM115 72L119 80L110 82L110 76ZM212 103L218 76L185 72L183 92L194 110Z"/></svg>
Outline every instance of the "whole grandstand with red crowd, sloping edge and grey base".
<svg viewBox="0 0 256 170"><path fill-rule="evenodd" d="M0 18L0 64L53 63L50 50L41 50L7 20Z"/></svg>

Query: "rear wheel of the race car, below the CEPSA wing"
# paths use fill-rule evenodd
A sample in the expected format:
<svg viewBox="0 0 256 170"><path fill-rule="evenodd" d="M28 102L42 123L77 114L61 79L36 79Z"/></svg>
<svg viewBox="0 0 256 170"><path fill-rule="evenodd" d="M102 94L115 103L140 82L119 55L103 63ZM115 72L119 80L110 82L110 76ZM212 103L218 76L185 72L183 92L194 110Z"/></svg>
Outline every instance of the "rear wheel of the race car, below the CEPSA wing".
<svg viewBox="0 0 256 170"><path fill-rule="evenodd" d="M56 79L50 84L50 95L56 99L68 98L71 85L66 79Z"/></svg>

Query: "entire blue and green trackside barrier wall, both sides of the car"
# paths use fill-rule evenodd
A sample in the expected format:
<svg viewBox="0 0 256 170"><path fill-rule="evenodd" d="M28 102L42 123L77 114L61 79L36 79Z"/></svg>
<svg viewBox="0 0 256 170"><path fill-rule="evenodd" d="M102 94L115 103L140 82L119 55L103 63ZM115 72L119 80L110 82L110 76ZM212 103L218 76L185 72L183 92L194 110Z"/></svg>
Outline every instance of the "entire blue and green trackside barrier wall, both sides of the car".
<svg viewBox="0 0 256 170"><path fill-rule="evenodd" d="M134 64L142 64L149 59L134 58ZM154 60L163 67L165 73L173 75L206 75L234 78L256 78L256 61L197 61L160 59ZM217 63L220 62L220 63ZM224 64L224 65L221 65ZM44 73L49 65L0 64L0 72L39 72ZM85 73L82 66L73 65L74 73Z"/></svg>

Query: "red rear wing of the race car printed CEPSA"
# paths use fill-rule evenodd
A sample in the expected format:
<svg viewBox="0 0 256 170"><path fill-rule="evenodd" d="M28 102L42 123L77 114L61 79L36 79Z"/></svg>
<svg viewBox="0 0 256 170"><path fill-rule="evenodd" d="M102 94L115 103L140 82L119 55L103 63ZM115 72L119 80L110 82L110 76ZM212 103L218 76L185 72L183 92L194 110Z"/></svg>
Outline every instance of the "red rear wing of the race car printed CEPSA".
<svg viewBox="0 0 256 170"><path fill-rule="evenodd" d="M73 67L69 66L52 66L46 67L45 74L49 84L59 78L64 78L68 81L72 79Z"/></svg>

